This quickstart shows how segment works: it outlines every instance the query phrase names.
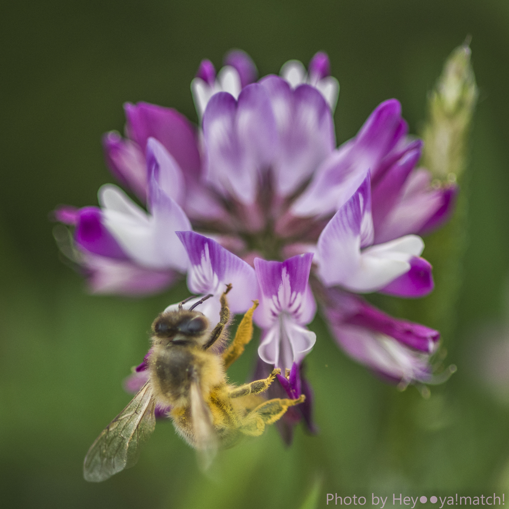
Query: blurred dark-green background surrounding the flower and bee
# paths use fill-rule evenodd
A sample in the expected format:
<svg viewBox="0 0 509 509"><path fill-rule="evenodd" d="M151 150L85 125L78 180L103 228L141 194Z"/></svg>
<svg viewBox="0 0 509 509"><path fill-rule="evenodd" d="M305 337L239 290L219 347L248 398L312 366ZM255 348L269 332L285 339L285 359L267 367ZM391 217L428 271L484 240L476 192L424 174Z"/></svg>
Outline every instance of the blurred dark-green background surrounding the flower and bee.
<svg viewBox="0 0 509 509"><path fill-rule="evenodd" d="M502 369L493 389L483 360L492 337L509 342L506 1L18 2L3 6L0 26L2 506L293 508L318 494L322 507L336 492L371 506L372 492L391 502L393 492L509 488L508 376ZM458 373L429 400L413 387L398 392L341 353L317 318L308 376L318 436L299 429L285 448L272 428L222 454L208 478L162 423L134 468L84 482L84 455L130 399L122 380L147 351L150 323L187 295L182 283L146 299L90 296L59 260L48 213L96 204L112 181L100 137L123 130L122 104L173 106L196 121L189 83L202 58L220 67L239 47L264 75L324 50L341 83L338 143L390 97L415 133L427 91L467 34L480 96L464 188L468 244L443 337ZM406 309L419 318L418 302ZM255 352L253 344L234 366L234 380L247 376ZM498 360L509 370L509 354Z"/></svg>

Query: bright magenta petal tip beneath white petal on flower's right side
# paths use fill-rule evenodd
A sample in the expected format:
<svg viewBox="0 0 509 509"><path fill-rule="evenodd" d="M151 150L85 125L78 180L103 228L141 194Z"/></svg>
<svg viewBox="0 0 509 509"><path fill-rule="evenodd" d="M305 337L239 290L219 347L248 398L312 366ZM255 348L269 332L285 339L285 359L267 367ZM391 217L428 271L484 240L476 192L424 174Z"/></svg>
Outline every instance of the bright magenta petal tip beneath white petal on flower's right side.
<svg viewBox="0 0 509 509"><path fill-rule="evenodd" d="M423 258L412 257L410 270L391 281L380 293L397 297L424 297L434 286L431 264Z"/></svg>

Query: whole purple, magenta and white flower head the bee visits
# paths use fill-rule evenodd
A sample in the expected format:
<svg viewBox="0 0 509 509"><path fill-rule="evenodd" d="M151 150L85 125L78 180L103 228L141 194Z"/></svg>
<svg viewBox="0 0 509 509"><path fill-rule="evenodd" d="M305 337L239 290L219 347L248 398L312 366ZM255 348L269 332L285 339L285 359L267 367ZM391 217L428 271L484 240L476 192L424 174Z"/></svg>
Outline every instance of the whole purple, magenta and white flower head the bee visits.
<svg viewBox="0 0 509 509"><path fill-rule="evenodd" d="M56 211L74 226L73 256L91 290L150 294L187 274L196 300L214 296L201 306L211 321L225 284L234 313L258 298L260 362L289 370L280 378L289 397L307 387L300 366L316 341L307 325L317 300L354 359L399 383L432 381L438 332L357 294L433 289L419 235L447 219L457 188L432 186L417 167L422 143L408 135L395 99L336 148L338 90L324 53L307 71L291 61L257 80L236 50L217 75L205 60L192 80L199 127L172 108L127 103L125 137L107 133L104 152L144 207L106 184L100 207Z"/></svg>

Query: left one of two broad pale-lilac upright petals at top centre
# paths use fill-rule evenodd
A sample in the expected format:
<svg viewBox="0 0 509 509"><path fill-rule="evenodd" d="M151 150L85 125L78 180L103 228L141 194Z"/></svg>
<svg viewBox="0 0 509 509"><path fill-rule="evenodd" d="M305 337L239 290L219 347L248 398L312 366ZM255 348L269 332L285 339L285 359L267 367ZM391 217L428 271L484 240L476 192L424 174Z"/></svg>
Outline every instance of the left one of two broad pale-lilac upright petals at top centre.
<svg viewBox="0 0 509 509"><path fill-rule="evenodd" d="M238 103L230 94L214 95L205 110L203 132L206 180L224 196L254 203L277 136L265 89L258 83L248 85Z"/></svg>

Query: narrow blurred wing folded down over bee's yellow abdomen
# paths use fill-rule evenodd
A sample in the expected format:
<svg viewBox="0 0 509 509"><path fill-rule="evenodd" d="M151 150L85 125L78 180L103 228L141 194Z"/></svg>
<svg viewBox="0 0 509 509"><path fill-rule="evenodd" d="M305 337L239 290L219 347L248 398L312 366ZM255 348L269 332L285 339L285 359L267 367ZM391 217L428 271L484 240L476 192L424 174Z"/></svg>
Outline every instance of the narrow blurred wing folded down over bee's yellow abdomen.
<svg viewBox="0 0 509 509"><path fill-rule="evenodd" d="M198 462L207 470L217 454L219 440L212 423L212 412L203 400L197 382L191 383L191 419Z"/></svg>

